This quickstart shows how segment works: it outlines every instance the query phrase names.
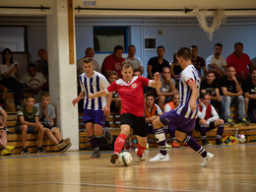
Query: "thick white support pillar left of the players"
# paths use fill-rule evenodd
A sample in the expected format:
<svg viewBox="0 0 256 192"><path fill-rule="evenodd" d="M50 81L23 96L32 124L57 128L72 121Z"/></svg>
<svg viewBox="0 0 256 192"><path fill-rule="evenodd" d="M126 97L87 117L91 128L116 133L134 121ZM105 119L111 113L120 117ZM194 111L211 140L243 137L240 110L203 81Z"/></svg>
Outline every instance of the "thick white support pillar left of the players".
<svg viewBox="0 0 256 192"><path fill-rule="evenodd" d="M73 106L72 99L77 96L77 67L76 62L69 62L68 0L52 0L51 8L52 15L46 16L49 92L56 107L56 125L63 138L71 139L70 150L75 151L79 150L79 122L78 107ZM73 15L73 24L74 20Z"/></svg>

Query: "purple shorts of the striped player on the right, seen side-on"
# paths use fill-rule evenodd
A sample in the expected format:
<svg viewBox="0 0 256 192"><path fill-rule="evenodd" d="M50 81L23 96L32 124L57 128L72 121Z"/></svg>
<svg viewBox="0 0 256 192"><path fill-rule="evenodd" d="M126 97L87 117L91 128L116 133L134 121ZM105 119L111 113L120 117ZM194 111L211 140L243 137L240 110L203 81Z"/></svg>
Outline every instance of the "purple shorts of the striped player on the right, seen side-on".
<svg viewBox="0 0 256 192"><path fill-rule="evenodd" d="M164 125L168 125L170 130L180 130L190 135L195 129L196 119L185 118L177 114L176 110L170 110L160 115L160 121Z"/></svg>

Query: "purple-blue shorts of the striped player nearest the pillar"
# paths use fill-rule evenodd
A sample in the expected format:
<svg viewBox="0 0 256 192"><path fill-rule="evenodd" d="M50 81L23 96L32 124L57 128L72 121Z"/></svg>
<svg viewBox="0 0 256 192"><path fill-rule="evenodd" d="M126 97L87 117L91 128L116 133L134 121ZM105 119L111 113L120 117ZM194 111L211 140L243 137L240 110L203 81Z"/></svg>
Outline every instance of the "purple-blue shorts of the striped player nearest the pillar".
<svg viewBox="0 0 256 192"><path fill-rule="evenodd" d="M105 115L102 110L84 109L84 123L93 122L104 126Z"/></svg>

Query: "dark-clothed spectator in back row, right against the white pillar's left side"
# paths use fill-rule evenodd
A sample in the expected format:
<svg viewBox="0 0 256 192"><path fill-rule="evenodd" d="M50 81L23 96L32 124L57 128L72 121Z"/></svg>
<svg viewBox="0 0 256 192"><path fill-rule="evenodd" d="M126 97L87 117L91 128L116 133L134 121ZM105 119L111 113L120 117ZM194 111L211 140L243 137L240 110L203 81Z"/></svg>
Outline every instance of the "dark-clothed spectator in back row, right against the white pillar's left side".
<svg viewBox="0 0 256 192"><path fill-rule="evenodd" d="M48 54L47 51L43 48L38 50L38 57L40 59L34 61L33 63L37 65L39 73L45 77L47 82L49 82L49 69L48 69Z"/></svg>

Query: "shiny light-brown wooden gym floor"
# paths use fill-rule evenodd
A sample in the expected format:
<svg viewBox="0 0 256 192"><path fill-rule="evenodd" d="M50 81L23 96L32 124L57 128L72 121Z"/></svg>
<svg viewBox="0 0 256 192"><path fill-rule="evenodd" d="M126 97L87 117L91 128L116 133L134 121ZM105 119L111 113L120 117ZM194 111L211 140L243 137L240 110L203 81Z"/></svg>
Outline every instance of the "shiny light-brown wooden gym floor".
<svg viewBox="0 0 256 192"><path fill-rule="evenodd" d="M171 160L155 163L148 160L157 149L146 151L145 162L131 152L127 167L111 164L112 152L98 160L86 151L1 157L0 191L256 191L256 143L205 149L215 155L207 167L189 148L168 150Z"/></svg>

